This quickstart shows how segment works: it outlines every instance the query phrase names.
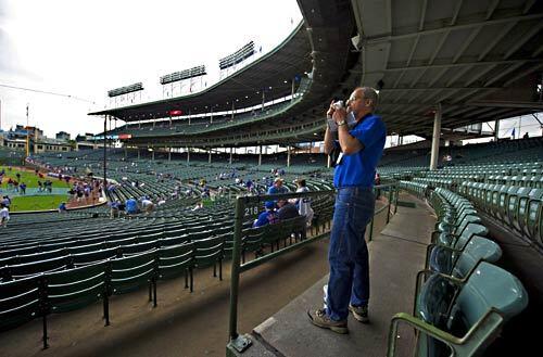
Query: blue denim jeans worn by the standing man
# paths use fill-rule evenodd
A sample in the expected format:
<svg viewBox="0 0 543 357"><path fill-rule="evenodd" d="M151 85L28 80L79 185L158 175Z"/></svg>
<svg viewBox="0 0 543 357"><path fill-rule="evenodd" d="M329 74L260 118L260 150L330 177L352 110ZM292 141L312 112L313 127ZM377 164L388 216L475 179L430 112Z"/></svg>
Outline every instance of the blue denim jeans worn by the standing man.
<svg viewBox="0 0 543 357"><path fill-rule="evenodd" d="M361 306L369 301L369 258L364 233L374 209L371 188L338 189L328 252L326 313L332 320L348 318L349 303Z"/></svg>

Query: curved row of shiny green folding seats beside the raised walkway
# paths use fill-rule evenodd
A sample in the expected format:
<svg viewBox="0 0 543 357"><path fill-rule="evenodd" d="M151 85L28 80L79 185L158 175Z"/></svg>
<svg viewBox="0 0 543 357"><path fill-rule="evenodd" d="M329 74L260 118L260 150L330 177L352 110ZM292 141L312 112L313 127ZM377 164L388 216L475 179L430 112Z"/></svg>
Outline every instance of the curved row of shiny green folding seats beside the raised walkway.
<svg viewBox="0 0 543 357"><path fill-rule="evenodd" d="M515 276L493 265L502 251L484 238L488 229L473 205L450 190L426 192L438 222L426 269L417 276L413 315L392 319L389 356L396 353L401 322L417 331L417 356L480 354L526 308L528 294Z"/></svg>

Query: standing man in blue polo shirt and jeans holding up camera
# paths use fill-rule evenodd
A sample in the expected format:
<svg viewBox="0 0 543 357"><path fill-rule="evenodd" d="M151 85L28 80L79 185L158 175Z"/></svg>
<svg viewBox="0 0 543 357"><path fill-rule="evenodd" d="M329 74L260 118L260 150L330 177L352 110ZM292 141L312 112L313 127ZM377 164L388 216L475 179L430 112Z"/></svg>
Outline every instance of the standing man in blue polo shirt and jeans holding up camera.
<svg viewBox="0 0 543 357"><path fill-rule="evenodd" d="M308 311L312 322L346 333L349 310L356 320L368 322L369 259L364 233L375 208L372 193L376 166L382 155L387 132L374 114L378 103L375 89L356 88L348 109L330 105L328 116L337 126L338 139L329 126L325 152L336 151L333 186L338 190L330 235L330 278L326 308ZM348 117L351 120L348 124Z"/></svg>

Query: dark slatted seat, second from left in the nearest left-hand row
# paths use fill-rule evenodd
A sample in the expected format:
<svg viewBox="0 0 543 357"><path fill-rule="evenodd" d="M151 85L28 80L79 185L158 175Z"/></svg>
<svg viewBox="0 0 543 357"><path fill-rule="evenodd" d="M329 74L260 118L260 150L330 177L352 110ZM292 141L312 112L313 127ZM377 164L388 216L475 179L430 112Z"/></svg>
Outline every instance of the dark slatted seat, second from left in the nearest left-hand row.
<svg viewBox="0 0 543 357"><path fill-rule="evenodd" d="M47 315L67 313L103 302L105 326L110 324L106 263L87 265L45 277L43 348L48 347Z"/></svg>

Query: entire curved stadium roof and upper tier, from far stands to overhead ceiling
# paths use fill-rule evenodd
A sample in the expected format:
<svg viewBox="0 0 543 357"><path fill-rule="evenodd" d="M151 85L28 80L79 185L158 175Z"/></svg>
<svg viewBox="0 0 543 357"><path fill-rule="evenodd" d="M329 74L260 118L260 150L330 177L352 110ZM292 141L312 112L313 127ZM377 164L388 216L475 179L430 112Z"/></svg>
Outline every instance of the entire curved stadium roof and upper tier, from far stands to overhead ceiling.
<svg viewBox="0 0 543 357"><path fill-rule="evenodd" d="M389 133L431 137L438 103L444 132L543 110L536 95L543 71L541 1L300 0L299 5L304 24L288 39L204 92L91 114L139 120L187 106L206 113L206 105L217 104L219 112L231 109L232 97L248 107L261 103L261 87L272 86L274 97L288 95L289 78L303 72L313 77L303 100L272 118L130 141L195 146L317 141L329 100L346 98L359 85L380 89L378 111Z"/></svg>

